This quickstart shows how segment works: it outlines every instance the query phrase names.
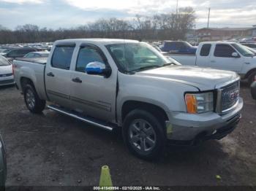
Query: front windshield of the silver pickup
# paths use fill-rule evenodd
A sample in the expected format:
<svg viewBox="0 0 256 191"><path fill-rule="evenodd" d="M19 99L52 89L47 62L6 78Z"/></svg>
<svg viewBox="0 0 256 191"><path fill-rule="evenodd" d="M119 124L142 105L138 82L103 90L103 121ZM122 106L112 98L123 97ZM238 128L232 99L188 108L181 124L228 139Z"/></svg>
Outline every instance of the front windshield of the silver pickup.
<svg viewBox="0 0 256 191"><path fill-rule="evenodd" d="M158 68L169 63L176 64L144 42L110 44L106 47L116 61L118 69L125 72Z"/></svg>

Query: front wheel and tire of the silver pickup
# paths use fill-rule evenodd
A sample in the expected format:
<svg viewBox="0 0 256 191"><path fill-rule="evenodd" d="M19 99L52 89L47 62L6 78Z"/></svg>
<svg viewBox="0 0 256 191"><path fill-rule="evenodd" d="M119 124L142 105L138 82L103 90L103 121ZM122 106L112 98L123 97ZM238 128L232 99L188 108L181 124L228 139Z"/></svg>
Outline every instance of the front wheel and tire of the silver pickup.
<svg viewBox="0 0 256 191"><path fill-rule="evenodd" d="M124 119L124 143L133 155L143 160L155 160L165 149L163 122L142 109L129 112ZM143 127L143 128L142 128Z"/></svg>

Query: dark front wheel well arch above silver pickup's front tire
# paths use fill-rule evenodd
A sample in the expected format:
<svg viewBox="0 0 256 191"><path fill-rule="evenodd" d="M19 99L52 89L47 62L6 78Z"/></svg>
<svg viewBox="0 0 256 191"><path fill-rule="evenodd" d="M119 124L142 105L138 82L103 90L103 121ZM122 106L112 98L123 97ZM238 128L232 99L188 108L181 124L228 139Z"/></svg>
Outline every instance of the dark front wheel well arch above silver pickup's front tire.
<svg viewBox="0 0 256 191"><path fill-rule="evenodd" d="M168 120L165 110L159 106L156 106L154 104L148 104L142 101L126 101L122 106L122 121L124 121L124 117L126 117L127 114L134 109L144 109L147 112L154 114L154 116L157 116L157 119L161 119L162 122Z"/></svg>

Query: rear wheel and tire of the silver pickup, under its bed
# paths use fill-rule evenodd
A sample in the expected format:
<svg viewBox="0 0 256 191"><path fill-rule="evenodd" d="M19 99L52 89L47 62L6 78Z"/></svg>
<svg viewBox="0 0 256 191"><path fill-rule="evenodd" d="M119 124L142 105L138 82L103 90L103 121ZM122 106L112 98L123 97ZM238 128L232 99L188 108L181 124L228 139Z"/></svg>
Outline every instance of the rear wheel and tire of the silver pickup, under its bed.
<svg viewBox="0 0 256 191"><path fill-rule="evenodd" d="M42 110L45 109L45 101L39 98L34 87L30 84L27 84L23 90L24 100L29 111L34 114L42 113Z"/></svg>

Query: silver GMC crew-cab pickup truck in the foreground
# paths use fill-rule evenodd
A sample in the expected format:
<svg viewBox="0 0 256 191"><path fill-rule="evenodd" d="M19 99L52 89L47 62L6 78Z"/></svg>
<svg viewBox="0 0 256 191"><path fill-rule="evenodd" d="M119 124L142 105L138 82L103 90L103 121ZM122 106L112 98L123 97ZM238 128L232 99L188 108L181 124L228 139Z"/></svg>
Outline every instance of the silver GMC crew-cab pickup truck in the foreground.
<svg viewBox="0 0 256 191"><path fill-rule="evenodd" d="M222 139L241 118L240 78L233 71L181 66L144 42L56 41L48 61L16 60L15 82L33 113L48 108L99 128L122 128L143 159L167 141Z"/></svg>

